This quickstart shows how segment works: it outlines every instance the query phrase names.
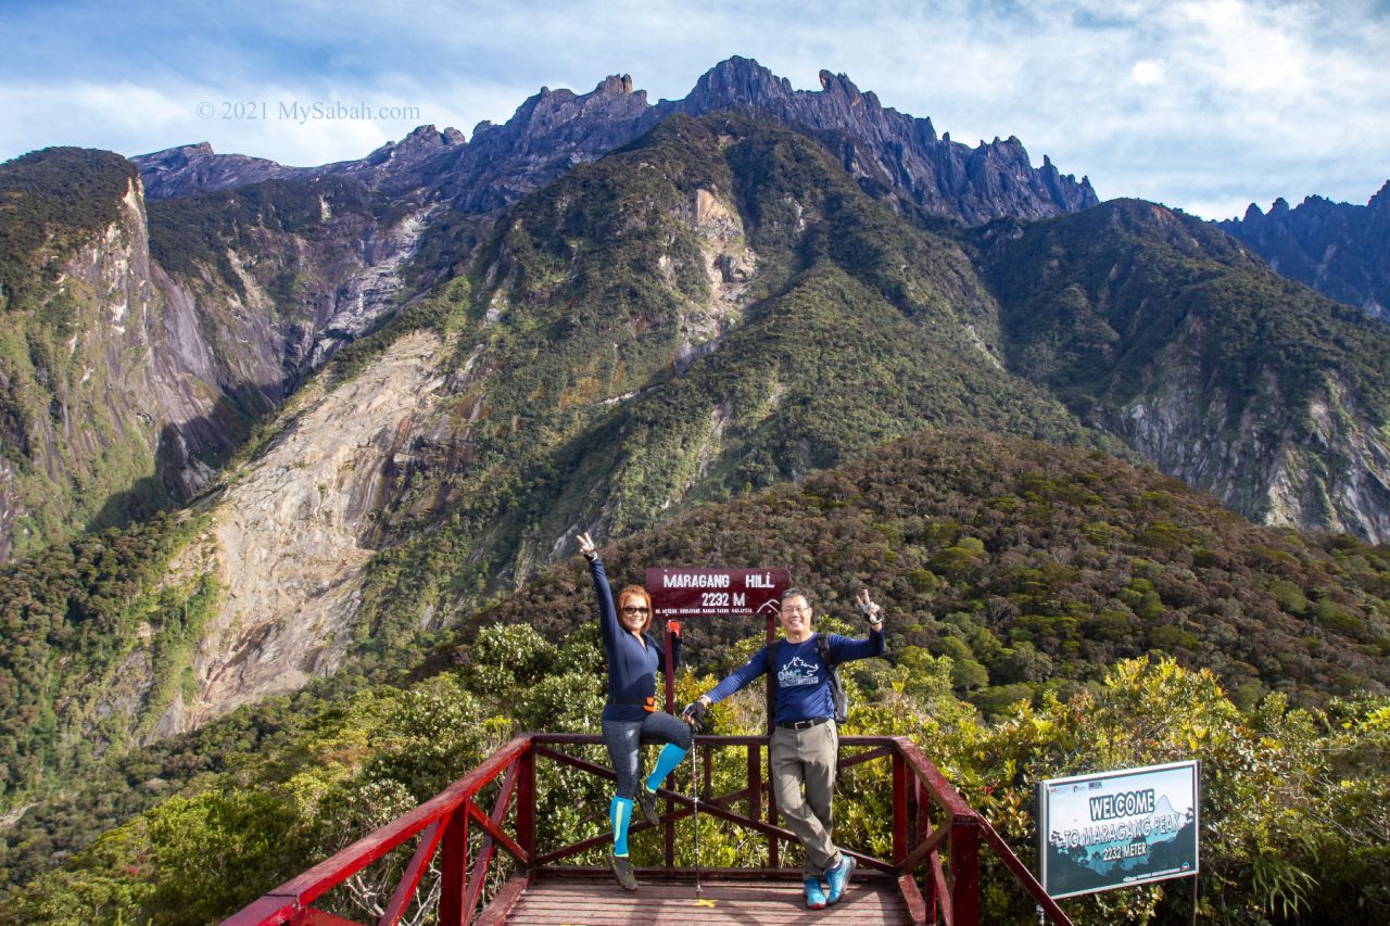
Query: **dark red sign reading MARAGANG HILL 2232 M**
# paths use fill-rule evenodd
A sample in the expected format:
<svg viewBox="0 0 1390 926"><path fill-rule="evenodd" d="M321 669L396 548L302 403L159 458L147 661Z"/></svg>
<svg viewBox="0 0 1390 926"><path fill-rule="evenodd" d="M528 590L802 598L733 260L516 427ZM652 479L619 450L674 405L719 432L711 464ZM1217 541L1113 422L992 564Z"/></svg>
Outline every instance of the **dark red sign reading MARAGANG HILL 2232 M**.
<svg viewBox="0 0 1390 926"><path fill-rule="evenodd" d="M728 615L776 615L791 588L785 569L649 569L653 617L688 620Z"/></svg>

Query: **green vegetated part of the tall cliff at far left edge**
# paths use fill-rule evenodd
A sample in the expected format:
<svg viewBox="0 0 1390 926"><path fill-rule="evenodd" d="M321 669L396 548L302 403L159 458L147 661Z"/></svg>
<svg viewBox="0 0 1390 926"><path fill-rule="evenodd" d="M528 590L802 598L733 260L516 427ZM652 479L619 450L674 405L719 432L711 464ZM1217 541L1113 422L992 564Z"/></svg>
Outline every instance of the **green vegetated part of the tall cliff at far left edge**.
<svg viewBox="0 0 1390 926"><path fill-rule="evenodd" d="M103 388L121 350L101 334L129 299L108 274L143 236L136 185L110 152L0 165L0 558L170 505L149 478L158 430Z"/></svg>

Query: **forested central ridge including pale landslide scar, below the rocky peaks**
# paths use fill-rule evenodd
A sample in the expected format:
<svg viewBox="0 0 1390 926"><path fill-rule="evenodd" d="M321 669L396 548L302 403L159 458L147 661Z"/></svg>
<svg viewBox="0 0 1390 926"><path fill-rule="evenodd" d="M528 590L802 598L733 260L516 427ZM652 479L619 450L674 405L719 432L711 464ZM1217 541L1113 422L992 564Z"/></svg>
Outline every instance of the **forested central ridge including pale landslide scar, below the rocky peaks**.
<svg viewBox="0 0 1390 926"><path fill-rule="evenodd" d="M627 534L927 424L1104 444L1001 366L958 245L741 117L676 115L574 168L420 306L424 330L338 355L213 512L228 577L329 534L354 566L286 555L278 603L228 599L190 720L404 645L523 584L557 537ZM411 385L363 382L388 368ZM343 456L316 452L328 434Z"/></svg>

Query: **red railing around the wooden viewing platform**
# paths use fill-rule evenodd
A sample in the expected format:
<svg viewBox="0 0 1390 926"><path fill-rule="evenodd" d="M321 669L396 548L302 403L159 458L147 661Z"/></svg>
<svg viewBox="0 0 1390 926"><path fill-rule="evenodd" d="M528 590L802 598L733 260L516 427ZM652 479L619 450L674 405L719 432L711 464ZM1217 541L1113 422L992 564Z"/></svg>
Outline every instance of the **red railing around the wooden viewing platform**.
<svg viewBox="0 0 1390 926"><path fill-rule="evenodd" d="M425 804L253 901L224 920L224 926L352 923L316 909L314 901L416 836L420 836L418 845L378 925L396 926L400 922L436 854L441 869L438 922L446 926L473 922L498 847L516 859L520 872L502 887L481 916L484 922L500 922L539 872L571 869L573 866L557 863L603 847L612 838L603 833L548 851L537 845L537 759L543 758L612 780L610 769L559 748L599 742L599 737L588 734L534 733L517 737ZM860 852L851 855L860 868L897 880L915 923L979 926L983 840L1052 922L1070 926L1066 913L1047 895L988 820L965 802L912 741L906 737L841 737L840 742L847 749L863 749L844 756L841 769L884 758L892 763L892 858L880 859ZM730 748L742 748L746 754L746 784L735 791L710 794L713 751ZM763 834L767 838L769 869L780 869L780 843L795 837L777 826L776 799L763 776L766 748L766 737L698 737L692 761L701 762L705 770L699 812ZM485 811L477 804L477 798L484 788L499 780L496 801L491 812ZM667 812L662 816L664 866L667 872L676 873L680 869L674 865L674 823L694 813L695 802L677 791L663 788L660 794L667 798ZM746 812L735 809L739 804ZM931 823L933 808L938 818L935 827ZM513 831L509 834L503 827L513 809ZM471 826L480 827L482 838L470 858ZM632 830L649 826L639 823ZM784 875L788 870L780 869ZM716 869L709 873L720 876L735 872L749 873L746 869Z"/></svg>

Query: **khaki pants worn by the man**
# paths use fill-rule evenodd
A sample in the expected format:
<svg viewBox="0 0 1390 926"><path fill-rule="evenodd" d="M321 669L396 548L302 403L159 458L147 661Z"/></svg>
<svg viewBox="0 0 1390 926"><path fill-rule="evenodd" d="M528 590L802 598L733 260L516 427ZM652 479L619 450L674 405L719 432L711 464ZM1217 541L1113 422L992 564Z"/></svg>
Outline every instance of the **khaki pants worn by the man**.
<svg viewBox="0 0 1390 926"><path fill-rule="evenodd" d="M830 841L834 827L830 798L835 791L838 751L840 734L834 720L806 730L773 729L769 747L773 794L787 829L806 850L805 877L820 877L827 868L840 863L840 850Z"/></svg>

